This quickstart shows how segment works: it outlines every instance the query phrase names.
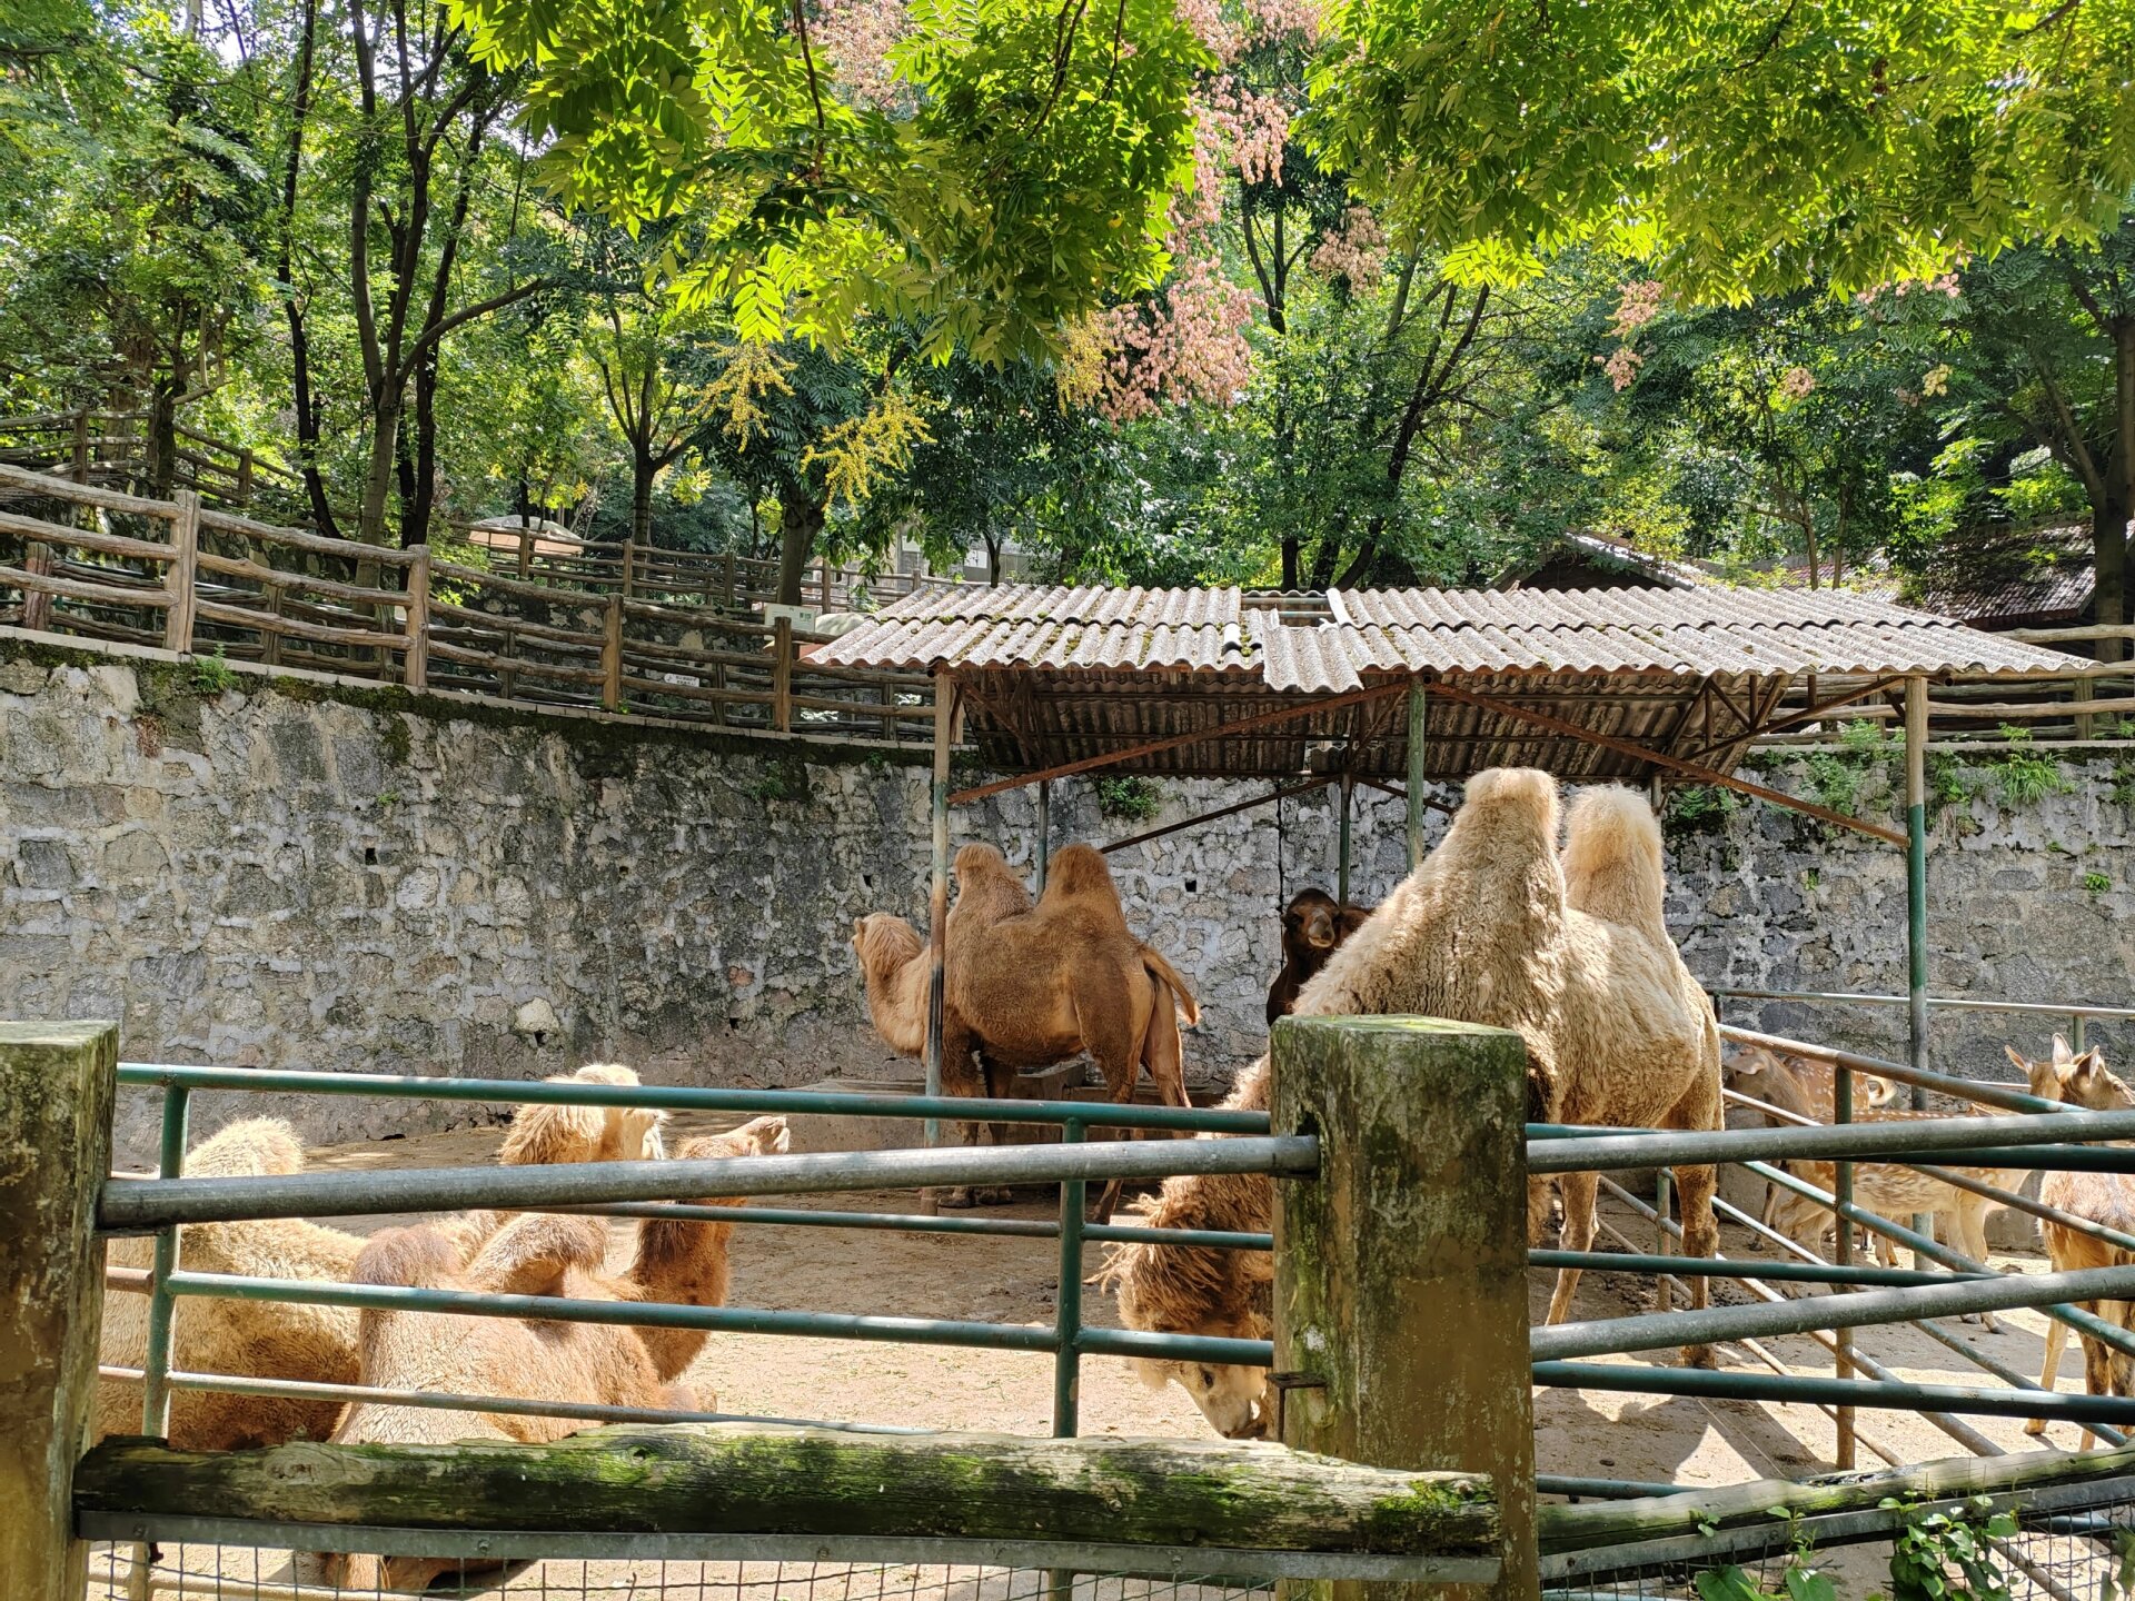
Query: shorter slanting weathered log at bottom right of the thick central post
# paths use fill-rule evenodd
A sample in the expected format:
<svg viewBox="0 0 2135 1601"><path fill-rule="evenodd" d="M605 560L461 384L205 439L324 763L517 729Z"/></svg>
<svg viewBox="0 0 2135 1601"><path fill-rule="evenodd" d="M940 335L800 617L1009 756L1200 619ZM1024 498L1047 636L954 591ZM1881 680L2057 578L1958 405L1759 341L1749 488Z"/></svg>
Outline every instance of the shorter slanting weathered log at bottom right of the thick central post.
<svg viewBox="0 0 2135 1601"><path fill-rule="evenodd" d="M2131 1473L2135 1473L2135 1445L2084 1456L2047 1452L1998 1458L1954 1456L1945 1462L1924 1462L1887 1473L1830 1475L1806 1484L1759 1479L1642 1501L1541 1507L1535 1513L1535 1528L1544 1552L1578 1552L1595 1545L1697 1535L1708 1528L1772 1526L1774 1513L1781 1509L1804 1518L1870 1511L1885 1499L1954 1501L2118 1479Z"/></svg>

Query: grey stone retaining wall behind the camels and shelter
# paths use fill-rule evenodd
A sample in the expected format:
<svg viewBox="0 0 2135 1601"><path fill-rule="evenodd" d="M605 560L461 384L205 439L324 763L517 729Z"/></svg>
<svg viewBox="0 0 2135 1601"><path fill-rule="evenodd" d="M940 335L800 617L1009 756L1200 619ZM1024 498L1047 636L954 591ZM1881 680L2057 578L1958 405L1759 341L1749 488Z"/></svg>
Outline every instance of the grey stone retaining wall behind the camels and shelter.
<svg viewBox="0 0 2135 1601"><path fill-rule="evenodd" d="M749 1087L916 1072L867 1029L848 937L865 912L924 916L918 751L796 754L397 689L209 679L154 653L0 643L0 1014L120 1018L135 1061L527 1076L611 1057ZM2073 764L2067 792L2026 805L2005 805L1992 773L1973 779L1979 794L1936 824L1934 986L2135 999L2135 852L2112 762ZM1862 796L1879 815L1881 783L1870 773ZM1127 822L1065 781L1055 841L1238 796L1164 786L1161 811ZM1902 986L1898 852L1757 805L1689 811L1670 824L1670 916L1702 978ZM1356 894L1377 899L1403 869L1401 803L1360 792L1354 835ZM959 811L965 839L1027 869L1031 792ZM1304 884L1332 886L1332 805L1294 800L1112 856L1129 922L1202 999L1187 1037L1202 1082L1260 1052L1275 912ZM1883 1050L1902 1040L1902 1014L1727 1014ZM2045 1029L1949 1018L1939 1063L1992 1072L2003 1037L2041 1044ZM199 1127L250 1110L269 1108L203 1097ZM320 1140L468 1116L363 1099L271 1110ZM147 1114L124 1114L132 1157L154 1148Z"/></svg>

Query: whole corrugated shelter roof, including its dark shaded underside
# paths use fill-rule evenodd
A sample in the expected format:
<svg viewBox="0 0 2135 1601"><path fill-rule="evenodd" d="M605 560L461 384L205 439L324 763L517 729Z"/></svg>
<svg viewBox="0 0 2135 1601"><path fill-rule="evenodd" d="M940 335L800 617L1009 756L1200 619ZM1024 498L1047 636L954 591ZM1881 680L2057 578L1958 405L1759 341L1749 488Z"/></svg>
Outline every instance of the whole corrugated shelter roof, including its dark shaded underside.
<svg viewBox="0 0 2135 1601"><path fill-rule="evenodd" d="M1430 687L1426 777L1544 766L1729 771L1808 704L1904 677L2075 677L2082 662L1849 591L937 585L811 649L950 672L1003 771L1127 751L1114 773L1396 777L1405 689ZM1181 743L1183 734L1251 722ZM1142 751L1144 745L1161 745Z"/></svg>

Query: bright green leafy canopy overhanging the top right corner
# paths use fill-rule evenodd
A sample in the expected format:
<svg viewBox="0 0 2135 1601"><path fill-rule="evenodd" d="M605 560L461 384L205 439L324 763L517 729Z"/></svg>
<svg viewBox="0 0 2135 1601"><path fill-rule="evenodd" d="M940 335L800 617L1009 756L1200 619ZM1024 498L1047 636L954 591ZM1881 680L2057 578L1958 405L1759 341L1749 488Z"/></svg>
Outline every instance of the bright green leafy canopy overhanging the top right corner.
<svg viewBox="0 0 2135 1601"><path fill-rule="evenodd" d="M1851 292L2112 228L2129 60L2099 0L1349 0L1311 137L1475 278L1599 241L1693 301Z"/></svg>

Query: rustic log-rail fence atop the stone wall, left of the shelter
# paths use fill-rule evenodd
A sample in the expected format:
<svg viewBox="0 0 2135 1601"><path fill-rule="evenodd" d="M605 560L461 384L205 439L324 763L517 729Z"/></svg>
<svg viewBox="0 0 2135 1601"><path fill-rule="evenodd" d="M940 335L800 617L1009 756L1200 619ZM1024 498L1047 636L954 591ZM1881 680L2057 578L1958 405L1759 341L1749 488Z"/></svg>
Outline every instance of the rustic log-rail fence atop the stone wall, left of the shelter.
<svg viewBox="0 0 2135 1601"><path fill-rule="evenodd" d="M811 666L788 619L504 576L0 465L0 623L534 707L931 739L916 672Z"/></svg>

